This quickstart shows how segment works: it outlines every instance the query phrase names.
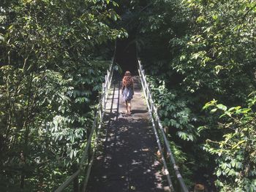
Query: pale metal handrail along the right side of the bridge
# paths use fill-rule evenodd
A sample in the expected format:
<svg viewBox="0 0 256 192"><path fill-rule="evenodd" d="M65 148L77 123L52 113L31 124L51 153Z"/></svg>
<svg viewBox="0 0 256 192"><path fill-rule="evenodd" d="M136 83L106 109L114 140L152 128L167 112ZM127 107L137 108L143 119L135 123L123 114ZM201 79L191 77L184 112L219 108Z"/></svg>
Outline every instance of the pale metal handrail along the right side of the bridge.
<svg viewBox="0 0 256 192"><path fill-rule="evenodd" d="M143 69L143 66L142 66L142 64L140 64L139 60L138 60L138 72L140 74L140 80L141 80L141 84L143 86L143 91L144 91L144 94L145 94L145 97L146 97L146 101L147 101L147 105L148 105L148 111L149 111L149 114L151 116L151 122L153 124L155 136L157 138L157 145L159 147L159 151L160 151L161 156L162 156L162 162L163 162L163 164L165 166L165 174L167 175L167 181L169 183L170 190L174 191L174 188L173 188L173 185L172 185L171 180L170 180L169 172L167 171L167 165L166 165L166 161L165 161L164 155L162 154L162 146L160 145L160 142L159 142L159 137L158 137L158 134L157 134L156 126L154 124L154 118L155 118L155 120L156 120L156 122L158 124L159 130L160 130L160 132L162 134L162 138L164 139L164 143L165 143L165 147L167 149L167 153L168 153L168 155L170 155L170 164L173 165L173 169L175 170L176 177L178 179L178 183L181 186L182 191L189 192L188 189L187 189L187 186L184 183L184 180L183 180L183 178L181 176L181 173L178 170L178 165L176 164L176 161L175 161L175 158L173 156L173 153L170 150L170 145L169 145L167 137L165 135L164 128L162 127L162 123L161 123L161 120L160 120L158 112L157 112L157 107L154 105L154 100L153 100L153 98L151 96L151 91L150 91L150 89L148 87L148 82L146 81L145 70Z"/></svg>

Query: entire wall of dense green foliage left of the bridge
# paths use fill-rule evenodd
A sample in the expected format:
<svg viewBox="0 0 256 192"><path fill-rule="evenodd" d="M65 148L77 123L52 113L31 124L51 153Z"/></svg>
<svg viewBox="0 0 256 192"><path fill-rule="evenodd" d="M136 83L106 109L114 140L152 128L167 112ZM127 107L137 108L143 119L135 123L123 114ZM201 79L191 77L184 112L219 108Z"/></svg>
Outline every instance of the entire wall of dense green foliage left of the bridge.
<svg viewBox="0 0 256 192"><path fill-rule="evenodd" d="M114 1L4 1L0 16L1 191L53 191L94 118L113 50Z"/></svg>

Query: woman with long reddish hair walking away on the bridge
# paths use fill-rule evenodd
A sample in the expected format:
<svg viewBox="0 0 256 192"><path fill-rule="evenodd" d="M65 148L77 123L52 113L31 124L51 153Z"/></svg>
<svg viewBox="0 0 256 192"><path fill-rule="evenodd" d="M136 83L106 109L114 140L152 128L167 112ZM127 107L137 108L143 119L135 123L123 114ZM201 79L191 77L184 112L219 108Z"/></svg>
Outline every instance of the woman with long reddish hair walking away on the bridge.
<svg viewBox="0 0 256 192"><path fill-rule="evenodd" d="M127 107L127 114L131 114L131 109L132 109L132 96L134 94L134 86L133 86L133 80L132 80L132 75L131 72L127 71L124 74L124 78L122 80L123 86L122 86L122 94L124 97L125 105Z"/></svg>

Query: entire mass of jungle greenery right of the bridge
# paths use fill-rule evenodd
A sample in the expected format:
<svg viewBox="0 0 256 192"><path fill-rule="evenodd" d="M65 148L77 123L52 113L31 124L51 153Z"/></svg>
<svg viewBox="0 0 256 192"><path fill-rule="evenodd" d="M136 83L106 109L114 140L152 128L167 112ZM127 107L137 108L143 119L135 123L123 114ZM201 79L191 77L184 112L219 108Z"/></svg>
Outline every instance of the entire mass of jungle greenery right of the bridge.
<svg viewBox="0 0 256 192"><path fill-rule="evenodd" d="M128 30L187 184L255 191L255 1L133 1L131 9Z"/></svg>

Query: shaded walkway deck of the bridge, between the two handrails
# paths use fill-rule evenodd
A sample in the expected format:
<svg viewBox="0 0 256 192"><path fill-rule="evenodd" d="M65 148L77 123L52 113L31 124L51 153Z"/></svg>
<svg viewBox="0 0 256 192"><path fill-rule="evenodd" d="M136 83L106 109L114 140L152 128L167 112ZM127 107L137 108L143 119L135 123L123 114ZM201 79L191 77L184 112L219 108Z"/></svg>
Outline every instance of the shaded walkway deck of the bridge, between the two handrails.
<svg viewBox="0 0 256 192"><path fill-rule="evenodd" d="M124 114L121 81L116 80L111 86L86 191L166 191L167 182L157 158L157 142L140 78L134 79L131 116Z"/></svg>

